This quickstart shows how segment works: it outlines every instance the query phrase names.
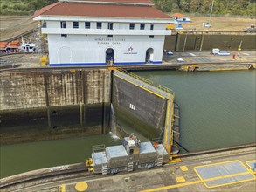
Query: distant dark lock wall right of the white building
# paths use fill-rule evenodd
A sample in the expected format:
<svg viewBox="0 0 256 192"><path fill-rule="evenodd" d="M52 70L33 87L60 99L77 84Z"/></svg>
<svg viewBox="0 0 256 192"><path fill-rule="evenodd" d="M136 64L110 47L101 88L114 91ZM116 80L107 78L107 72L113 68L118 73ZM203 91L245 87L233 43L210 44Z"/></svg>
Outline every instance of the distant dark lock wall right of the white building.
<svg viewBox="0 0 256 192"><path fill-rule="evenodd" d="M186 39L186 42L185 42ZM219 32L177 32L165 36L164 49L168 51L211 51L218 48L223 51L238 51L242 42L243 51L256 50L255 34Z"/></svg>

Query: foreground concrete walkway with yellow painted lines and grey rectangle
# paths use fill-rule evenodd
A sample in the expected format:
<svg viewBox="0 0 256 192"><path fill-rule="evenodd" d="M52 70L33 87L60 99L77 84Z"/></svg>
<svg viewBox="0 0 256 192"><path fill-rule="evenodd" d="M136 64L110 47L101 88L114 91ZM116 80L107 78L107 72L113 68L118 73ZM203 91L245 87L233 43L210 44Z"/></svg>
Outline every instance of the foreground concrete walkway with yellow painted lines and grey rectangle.
<svg viewBox="0 0 256 192"><path fill-rule="evenodd" d="M42 186L18 191L254 191L253 163L256 147L216 154L186 157L162 168L123 172L117 175L91 175L62 182L55 179ZM15 191L15 190L13 190Z"/></svg>

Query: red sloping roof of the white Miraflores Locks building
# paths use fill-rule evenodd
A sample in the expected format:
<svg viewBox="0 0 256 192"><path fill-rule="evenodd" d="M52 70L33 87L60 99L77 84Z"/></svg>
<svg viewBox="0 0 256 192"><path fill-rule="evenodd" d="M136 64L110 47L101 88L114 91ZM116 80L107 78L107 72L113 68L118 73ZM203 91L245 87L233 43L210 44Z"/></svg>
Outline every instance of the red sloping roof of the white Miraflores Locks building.
<svg viewBox="0 0 256 192"><path fill-rule="evenodd" d="M37 10L34 17L38 16L170 19L170 16L152 6L67 2L53 3Z"/></svg>

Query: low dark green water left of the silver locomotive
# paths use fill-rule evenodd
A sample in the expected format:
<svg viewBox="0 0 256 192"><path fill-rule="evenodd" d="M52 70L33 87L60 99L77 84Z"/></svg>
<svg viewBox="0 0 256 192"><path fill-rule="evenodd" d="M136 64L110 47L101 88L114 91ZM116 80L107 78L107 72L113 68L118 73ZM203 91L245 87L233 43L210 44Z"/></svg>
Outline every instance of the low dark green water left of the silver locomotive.
<svg viewBox="0 0 256 192"><path fill-rule="evenodd" d="M0 147L0 178L38 168L86 161L94 145L119 145L111 134L40 141Z"/></svg>

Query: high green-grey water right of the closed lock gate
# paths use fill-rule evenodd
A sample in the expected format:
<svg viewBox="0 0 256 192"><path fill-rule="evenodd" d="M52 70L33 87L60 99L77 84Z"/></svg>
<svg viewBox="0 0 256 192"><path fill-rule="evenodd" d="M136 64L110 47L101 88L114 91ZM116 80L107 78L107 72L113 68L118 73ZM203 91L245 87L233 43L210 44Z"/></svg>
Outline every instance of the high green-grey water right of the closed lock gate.
<svg viewBox="0 0 256 192"><path fill-rule="evenodd" d="M176 93L181 144L189 151L256 142L255 70L136 74Z"/></svg>

